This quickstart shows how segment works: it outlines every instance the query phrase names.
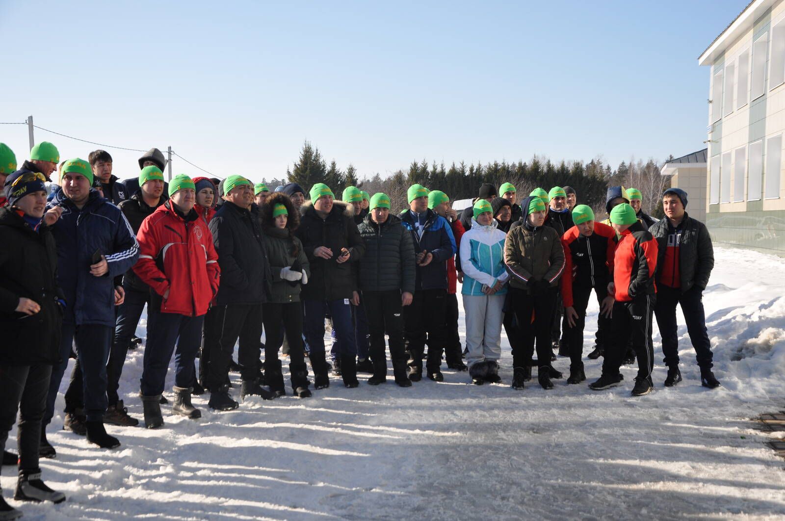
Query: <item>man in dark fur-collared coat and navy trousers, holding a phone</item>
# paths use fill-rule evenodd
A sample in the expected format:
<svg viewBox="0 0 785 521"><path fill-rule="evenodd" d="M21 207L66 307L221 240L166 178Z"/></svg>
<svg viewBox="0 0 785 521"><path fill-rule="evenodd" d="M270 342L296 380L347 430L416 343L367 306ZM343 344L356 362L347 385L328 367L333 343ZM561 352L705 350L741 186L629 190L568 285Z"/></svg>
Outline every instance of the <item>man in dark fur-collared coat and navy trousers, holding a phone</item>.
<svg viewBox="0 0 785 521"><path fill-rule="evenodd" d="M359 382L352 304L360 304L360 288L353 264L365 253L365 244L351 206L334 201L333 192L323 183L313 185L310 195L310 203L301 207L296 235L311 263L311 278L303 286L301 299L314 388L330 386L324 358L324 317L328 314L333 320L333 350L341 364L341 377L346 387L355 388Z"/></svg>

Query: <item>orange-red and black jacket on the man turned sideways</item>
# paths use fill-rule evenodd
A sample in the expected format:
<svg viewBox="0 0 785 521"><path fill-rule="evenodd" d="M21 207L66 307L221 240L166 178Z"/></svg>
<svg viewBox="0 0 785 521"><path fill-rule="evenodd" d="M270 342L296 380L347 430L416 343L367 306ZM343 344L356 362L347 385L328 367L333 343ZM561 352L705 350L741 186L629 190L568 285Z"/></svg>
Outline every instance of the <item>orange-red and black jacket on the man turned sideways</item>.
<svg viewBox="0 0 785 521"><path fill-rule="evenodd" d="M657 293L654 282L657 250L657 239L640 221L622 232L613 263L616 301L629 302L640 295Z"/></svg>

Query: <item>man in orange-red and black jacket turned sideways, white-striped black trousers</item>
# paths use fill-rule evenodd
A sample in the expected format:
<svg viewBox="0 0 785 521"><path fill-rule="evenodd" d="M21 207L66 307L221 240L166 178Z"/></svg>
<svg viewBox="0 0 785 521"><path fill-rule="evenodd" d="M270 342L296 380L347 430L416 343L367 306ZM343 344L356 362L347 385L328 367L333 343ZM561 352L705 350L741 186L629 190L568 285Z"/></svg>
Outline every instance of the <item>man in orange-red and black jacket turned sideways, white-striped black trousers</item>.
<svg viewBox="0 0 785 521"><path fill-rule="evenodd" d="M613 282L608 284L608 293L613 293L616 299L613 304L613 338L605 350L602 376L589 387L601 390L621 383L619 366L622 365L627 341L631 338L638 363L632 395L648 395L654 387L652 315L657 293L654 282L657 241L626 202L611 210L611 224L621 237L614 256Z"/></svg>

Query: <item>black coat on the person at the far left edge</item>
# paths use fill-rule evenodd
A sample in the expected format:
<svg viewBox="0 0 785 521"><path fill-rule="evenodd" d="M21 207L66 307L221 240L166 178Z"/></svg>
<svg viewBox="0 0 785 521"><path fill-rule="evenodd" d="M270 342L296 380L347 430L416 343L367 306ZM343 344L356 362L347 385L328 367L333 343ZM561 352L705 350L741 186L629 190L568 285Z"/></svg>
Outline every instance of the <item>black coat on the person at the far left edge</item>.
<svg viewBox="0 0 785 521"><path fill-rule="evenodd" d="M36 232L15 209L0 208L0 365L60 361L63 312L57 299L57 249L51 230ZM35 315L14 310L20 297L41 306Z"/></svg>

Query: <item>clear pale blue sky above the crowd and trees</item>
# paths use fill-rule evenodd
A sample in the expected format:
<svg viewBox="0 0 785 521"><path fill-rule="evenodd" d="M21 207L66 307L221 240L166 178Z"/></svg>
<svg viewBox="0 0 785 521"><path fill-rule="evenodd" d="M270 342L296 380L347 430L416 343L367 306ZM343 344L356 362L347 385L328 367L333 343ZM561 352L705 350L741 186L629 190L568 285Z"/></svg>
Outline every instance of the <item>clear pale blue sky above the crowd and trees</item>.
<svg viewBox="0 0 785 521"><path fill-rule="evenodd" d="M304 140L369 177L423 158L662 160L703 148L697 57L746 4L0 0L0 122L171 145L252 180L283 177ZM26 127L0 141L27 155ZM107 150L137 174L139 153Z"/></svg>

